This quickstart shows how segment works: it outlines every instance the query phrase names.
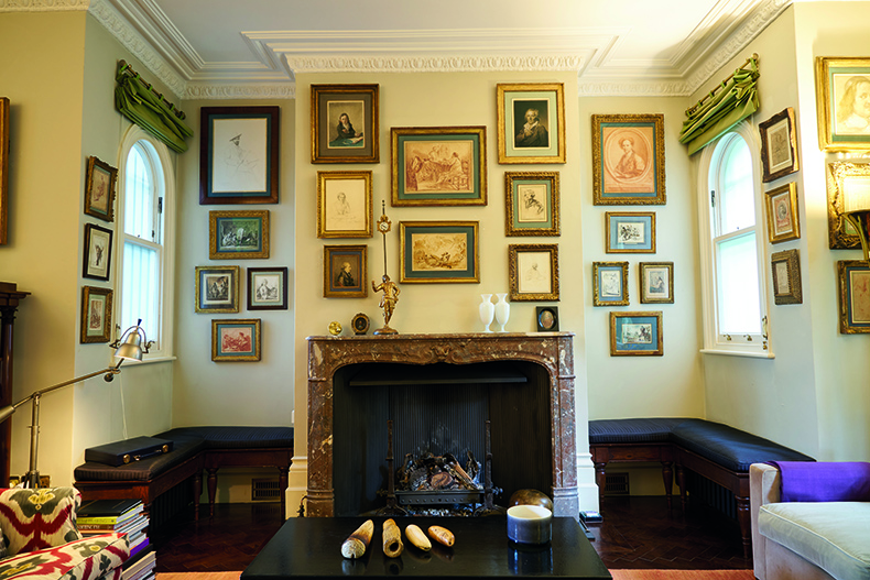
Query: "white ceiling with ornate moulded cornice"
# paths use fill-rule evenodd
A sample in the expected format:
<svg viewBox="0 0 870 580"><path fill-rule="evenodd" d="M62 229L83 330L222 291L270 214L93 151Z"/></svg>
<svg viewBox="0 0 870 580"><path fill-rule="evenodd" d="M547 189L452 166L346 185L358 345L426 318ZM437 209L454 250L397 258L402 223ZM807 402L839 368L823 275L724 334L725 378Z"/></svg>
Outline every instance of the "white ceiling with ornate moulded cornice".
<svg viewBox="0 0 870 580"><path fill-rule="evenodd" d="M576 70L587 94L687 95L791 1L93 0L88 9L192 98L287 95L300 72L498 69Z"/></svg>

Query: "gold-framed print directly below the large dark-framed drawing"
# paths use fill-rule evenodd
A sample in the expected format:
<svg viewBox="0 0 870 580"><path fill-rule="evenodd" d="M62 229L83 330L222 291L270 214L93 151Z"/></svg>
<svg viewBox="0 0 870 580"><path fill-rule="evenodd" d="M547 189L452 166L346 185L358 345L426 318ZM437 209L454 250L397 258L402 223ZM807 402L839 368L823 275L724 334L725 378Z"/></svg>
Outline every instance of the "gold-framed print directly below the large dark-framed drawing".
<svg viewBox="0 0 870 580"><path fill-rule="evenodd" d="M209 211L208 258L269 258L269 210Z"/></svg>

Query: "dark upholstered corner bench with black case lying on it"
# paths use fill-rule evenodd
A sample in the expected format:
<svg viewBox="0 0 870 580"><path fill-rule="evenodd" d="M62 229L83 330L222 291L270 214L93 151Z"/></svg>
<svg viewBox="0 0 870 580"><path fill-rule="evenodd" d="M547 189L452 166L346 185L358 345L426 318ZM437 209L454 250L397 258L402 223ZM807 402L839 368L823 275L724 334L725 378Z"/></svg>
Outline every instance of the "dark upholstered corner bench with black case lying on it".
<svg viewBox="0 0 870 580"><path fill-rule="evenodd" d="M153 437L173 441L173 450L118 467L96 461L78 466L74 472L75 486L81 496L85 500L135 497L150 511L157 496L188 480L198 500L205 469L209 514L214 516L217 471L221 467L276 468L279 489L287 486L293 427L181 427ZM283 513L283 493L281 504ZM199 518L198 508L194 517Z"/></svg>

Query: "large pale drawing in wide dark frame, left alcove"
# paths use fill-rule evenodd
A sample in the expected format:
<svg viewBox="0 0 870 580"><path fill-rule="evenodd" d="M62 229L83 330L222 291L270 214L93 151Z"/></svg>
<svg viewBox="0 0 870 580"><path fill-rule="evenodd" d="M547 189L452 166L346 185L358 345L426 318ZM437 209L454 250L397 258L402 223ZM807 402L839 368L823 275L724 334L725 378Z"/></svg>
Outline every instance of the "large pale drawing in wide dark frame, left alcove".
<svg viewBox="0 0 870 580"><path fill-rule="evenodd" d="M278 204L279 107L203 107L199 205Z"/></svg>

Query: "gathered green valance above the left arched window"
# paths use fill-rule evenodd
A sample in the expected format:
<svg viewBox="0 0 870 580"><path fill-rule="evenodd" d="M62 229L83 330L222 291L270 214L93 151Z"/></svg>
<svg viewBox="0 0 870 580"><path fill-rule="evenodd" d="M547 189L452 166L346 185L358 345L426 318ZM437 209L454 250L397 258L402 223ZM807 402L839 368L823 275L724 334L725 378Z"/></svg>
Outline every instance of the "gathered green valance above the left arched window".
<svg viewBox="0 0 870 580"><path fill-rule="evenodd" d="M166 143L171 150L178 153L187 151L184 140L193 136L194 132L184 123L182 111L152 89L123 61L118 63L115 80L118 83L115 87L115 108L121 114Z"/></svg>

